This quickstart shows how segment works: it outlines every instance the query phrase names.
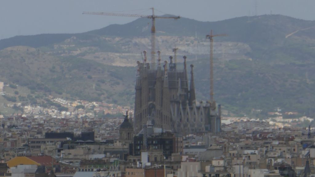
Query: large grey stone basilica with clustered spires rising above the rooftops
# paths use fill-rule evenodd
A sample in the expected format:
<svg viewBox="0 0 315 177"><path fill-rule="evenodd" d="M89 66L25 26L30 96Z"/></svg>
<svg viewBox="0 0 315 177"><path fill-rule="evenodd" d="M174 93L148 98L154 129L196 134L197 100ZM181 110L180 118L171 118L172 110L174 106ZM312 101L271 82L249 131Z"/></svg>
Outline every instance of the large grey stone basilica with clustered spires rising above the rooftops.
<svg viewBox="0 0 315 177"><path fill-rule="evenodd" d="M137 61L138 70L135 85L134 130L138 133L144 124L151 122L154 127L175 133L221 131L221 110L216 113L215 103L208 101L196 105L193 65L191 65L188 88L186 56L184 68L178 69L173 58L161 66L158 51L157 68L150 68L144 51L143 63Z"/></svg>

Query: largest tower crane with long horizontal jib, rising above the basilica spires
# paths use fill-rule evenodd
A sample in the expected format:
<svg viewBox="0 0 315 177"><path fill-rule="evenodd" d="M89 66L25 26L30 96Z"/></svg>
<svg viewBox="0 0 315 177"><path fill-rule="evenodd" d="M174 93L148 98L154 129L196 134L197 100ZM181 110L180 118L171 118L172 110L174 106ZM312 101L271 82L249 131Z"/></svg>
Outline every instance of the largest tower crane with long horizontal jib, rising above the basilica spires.
<svg viewBox="0 0 315 177"><path fill-rule="evenodd" d="M154 15L154 8L152 9L152 15L139 15L139 14L117 14L117 13L106 13L106 12L83 12L83 14L90 15L107 15L107 16L122 16L122 17L139 17L152 19L151 27L151 63L152 69L155 69L155 19L179 19L180 16L157 16Z"/></svg>

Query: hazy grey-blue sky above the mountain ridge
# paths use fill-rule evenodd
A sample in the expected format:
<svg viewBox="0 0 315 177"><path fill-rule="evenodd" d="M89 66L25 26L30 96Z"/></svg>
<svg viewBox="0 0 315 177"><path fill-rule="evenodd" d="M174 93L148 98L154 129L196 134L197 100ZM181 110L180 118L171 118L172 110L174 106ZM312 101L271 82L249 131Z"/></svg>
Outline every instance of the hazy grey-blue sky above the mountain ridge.
<svg viewBox="0 0 315 177"><path fill-rule="evenodd" d="M135 20L83 15L83 11L150 15L149 8L154 7L157 15L166 13L200 21L217 21L254 15L255 4L258 15L272 11L272 14L315 20L315 0L0 0L0 39L16 35L85 32Z"/></svg>

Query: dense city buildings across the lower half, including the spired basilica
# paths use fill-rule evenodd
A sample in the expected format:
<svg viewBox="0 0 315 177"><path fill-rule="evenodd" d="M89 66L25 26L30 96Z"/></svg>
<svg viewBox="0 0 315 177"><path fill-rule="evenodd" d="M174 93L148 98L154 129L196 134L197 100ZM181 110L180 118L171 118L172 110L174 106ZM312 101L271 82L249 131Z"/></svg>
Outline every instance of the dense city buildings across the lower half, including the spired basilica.
<svg viewBox="0 0 315 177"><path fill-rule="evenodd" d="M135 113L128 106L53 96L45 99L50 103L45 107L7 104L23 114L1 117L1 174L258 177L313 170L315 134L310 127L294 126L312 118L288 118L298 113L279 108L264 120L223 117L220 105L215 113L215 102L196 102L193 65L188 89L184 59L183 71L177 71L172 57L164 71L160 55L156 70L146 55L144 63L138 62Z"/></svg>

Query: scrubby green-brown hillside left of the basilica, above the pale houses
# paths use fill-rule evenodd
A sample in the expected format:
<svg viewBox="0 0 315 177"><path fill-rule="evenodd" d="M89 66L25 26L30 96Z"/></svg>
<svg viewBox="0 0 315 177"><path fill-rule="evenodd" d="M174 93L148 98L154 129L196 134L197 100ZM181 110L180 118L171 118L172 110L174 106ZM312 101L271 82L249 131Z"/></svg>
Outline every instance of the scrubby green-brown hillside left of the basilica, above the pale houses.
<svg viewBox="0 0 315 177"><path fill-rule="evenodd" d="M82 100L106 99L130 104L135 80L130 73L135 72L135 68L102 65L78 57L54 57L39 50L18 48L18 51L5 49L0 52L1 80L42 94L62 96L65 93Z"/></svg>

